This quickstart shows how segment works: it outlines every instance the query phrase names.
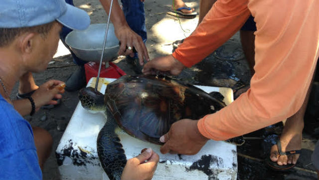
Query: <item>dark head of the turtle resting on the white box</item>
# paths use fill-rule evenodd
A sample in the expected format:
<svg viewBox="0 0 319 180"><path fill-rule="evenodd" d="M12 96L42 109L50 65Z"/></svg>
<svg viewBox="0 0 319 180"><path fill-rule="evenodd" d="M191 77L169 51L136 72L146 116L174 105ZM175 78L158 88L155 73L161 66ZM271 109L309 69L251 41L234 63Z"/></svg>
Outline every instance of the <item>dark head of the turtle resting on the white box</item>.
<svg viewBox="0 0 319 180"><path fill-rule="evenodd" d="M79 99L82 107L90 112L105 111L104 95L92 87L81 89Z"/></svg>

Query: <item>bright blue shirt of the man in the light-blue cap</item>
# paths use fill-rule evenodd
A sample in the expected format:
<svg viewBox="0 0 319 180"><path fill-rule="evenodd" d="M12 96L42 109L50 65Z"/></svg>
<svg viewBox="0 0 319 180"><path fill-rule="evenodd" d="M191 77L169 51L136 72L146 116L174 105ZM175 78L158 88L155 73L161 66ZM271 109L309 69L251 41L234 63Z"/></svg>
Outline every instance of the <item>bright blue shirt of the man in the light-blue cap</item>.
<svg viewBox="0 0 319 180"><path fill-rule="evenodd" d="M0 180L41 180L30 124L0 95Z"/></svg>

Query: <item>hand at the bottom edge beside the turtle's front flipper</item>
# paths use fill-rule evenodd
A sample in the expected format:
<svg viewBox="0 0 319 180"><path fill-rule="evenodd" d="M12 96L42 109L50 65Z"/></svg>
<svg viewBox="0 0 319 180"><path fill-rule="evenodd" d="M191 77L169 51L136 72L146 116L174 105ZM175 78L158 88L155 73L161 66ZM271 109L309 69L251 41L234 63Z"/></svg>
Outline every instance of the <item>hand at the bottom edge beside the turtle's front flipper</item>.
<svg viewBox="0 0 319 180"><path fill-rule="evenodd" d="M139 156L128 160L121 180L151 180L159 160L158 154L152 151L151 148L147 149Z"/></svg>

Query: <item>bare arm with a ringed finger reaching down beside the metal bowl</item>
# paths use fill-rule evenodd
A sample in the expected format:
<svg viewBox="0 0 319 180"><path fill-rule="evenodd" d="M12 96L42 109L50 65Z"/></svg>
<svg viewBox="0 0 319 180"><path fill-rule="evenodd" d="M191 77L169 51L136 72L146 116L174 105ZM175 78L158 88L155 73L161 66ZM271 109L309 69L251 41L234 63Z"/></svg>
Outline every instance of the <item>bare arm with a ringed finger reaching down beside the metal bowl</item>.
<svg viewBox="0 0 319 180"><path fill-rule="evenodd" d="M107 14L109 14L111 0L100 0L100 2ZM149 61L150 57L142 37L135 33L128 25L118 0L113 1L110 19L114 25L115 35L121 41L119 54L133 56L133 49L126 49L126 46L131 46L135 47L138 52L141 65L144 64L144 58Z"/></svg>

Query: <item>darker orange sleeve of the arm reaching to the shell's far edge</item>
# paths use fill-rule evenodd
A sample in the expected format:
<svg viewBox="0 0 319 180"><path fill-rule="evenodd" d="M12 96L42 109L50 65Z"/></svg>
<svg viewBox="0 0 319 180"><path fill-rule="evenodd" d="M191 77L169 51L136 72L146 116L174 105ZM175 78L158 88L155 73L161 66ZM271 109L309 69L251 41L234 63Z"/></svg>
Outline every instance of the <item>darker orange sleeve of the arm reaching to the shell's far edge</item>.
<svg viewBox="0 0 319 180"><path fill-rule="evenodd" d="M186 67L198 63L234 35L250 15L248 0L217 0L194 32L172 53Z"/></svg>

